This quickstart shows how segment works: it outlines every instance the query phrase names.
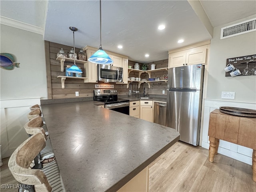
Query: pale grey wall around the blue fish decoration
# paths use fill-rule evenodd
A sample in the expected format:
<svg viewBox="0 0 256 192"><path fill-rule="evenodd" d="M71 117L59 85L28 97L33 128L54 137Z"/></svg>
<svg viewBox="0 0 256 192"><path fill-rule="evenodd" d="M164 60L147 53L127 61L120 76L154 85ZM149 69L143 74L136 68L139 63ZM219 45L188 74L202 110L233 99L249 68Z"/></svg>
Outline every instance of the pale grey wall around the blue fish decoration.
<svg viewBox="0 0 256 192"><path fill-rule="evenodd" d="M14 70L0 69L0 98L47 99L43 35L1 24L0 52L20 63Z"/></svg>

